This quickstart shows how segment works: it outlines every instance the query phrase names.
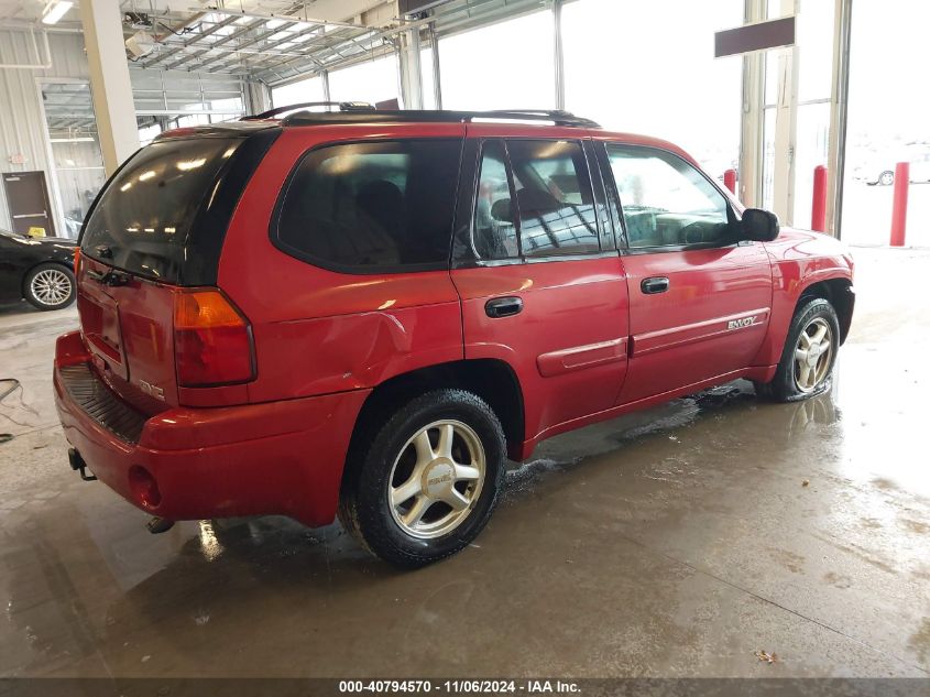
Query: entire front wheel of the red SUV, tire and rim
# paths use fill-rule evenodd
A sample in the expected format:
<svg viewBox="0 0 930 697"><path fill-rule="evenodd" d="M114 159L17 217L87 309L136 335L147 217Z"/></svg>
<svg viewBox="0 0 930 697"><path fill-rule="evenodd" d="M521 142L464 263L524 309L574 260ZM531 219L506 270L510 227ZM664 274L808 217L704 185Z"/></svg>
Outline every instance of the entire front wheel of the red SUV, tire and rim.
<svg viewBox="0 0 930 697"><path fill-rule="evenodd" d="M776 402L822 394L830 388L839 349L840 322L833 306L820 297L802 302L788 327L775 378L756 383L756 393Z"/></svg>

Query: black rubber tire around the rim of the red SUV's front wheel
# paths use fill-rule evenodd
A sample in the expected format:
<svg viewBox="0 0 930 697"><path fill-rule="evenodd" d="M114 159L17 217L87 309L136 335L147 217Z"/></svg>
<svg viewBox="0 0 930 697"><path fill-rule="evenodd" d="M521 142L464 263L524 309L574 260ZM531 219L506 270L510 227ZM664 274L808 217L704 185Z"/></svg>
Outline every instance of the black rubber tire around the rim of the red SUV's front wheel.
<svg viewBox="0 0 930 697"><path fill-rule="evenodd" d="M816 322L823 322L828 325L831 350L827 366L824 366L823 378L811 389L803 390L798 384L795 350L798 348L801 331ZM768 383L754 383L756 394L775 402L798 402L817 396L818 394L823 394L830 389L839 348L840 320L836 318L836 312L833 309L833 306L820 297L801 298L798 308L795 311L791 325L788 327L788 336L785 339L785 348L781 350L781 359L778 361L775 378Z"/></svg>

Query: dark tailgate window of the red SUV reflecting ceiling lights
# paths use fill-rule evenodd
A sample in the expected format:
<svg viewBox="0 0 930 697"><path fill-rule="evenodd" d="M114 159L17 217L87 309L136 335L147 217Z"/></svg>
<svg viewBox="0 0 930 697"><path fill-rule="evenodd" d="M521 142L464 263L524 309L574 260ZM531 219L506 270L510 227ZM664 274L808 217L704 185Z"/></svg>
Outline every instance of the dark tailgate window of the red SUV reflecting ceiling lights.
<svg viewBox="0 0 930 697"><path fill-rule="evenodd" d="M179 282L196 265L192 239L219 174L243 139L167 140L140 150L103 190L81 248L119 269ZM206 232L203 232L206 233Z"/></svg>

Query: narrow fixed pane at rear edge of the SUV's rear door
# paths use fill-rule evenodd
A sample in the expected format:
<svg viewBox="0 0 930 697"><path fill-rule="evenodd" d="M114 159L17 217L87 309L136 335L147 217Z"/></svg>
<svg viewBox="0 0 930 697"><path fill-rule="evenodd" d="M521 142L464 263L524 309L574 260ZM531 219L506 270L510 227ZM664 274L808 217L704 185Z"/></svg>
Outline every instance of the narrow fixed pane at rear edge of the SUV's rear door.
<svg viewBox="0 0 930 697"><path fill-rule="evenodd" d="M519 254L513 213L504 144L488 141L481 150L472 232L479 259L511 259Z"/></svg>

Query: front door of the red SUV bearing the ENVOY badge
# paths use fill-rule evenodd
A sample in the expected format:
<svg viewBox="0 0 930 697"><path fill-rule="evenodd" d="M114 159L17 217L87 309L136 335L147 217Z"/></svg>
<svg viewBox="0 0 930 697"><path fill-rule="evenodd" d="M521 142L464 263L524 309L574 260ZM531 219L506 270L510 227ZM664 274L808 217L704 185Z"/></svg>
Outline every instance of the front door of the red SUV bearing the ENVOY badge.
<svg viewBox="0 0 930 697"><path fill-rule="evenodd" d="M752 363L772 307L762 243L736 242L727 199L675 153L608 143L630 286L630 367L617 403Z"/></svg>

